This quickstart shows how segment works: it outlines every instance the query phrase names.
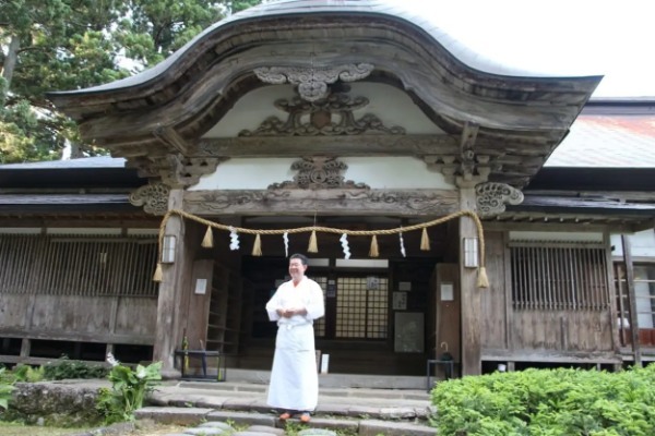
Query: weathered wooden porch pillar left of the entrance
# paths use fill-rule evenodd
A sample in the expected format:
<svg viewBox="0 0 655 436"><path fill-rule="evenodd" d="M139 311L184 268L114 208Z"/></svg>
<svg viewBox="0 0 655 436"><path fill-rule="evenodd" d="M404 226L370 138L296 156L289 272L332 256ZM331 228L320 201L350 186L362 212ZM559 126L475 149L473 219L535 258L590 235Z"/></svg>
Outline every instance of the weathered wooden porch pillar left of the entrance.
<svg viewBox="0 0 655 436"><path fill-rule="evenodd" d="M181 209L184 191L174 189L168 197L168 209ZM181 323L177 313L180 307L183 283L184 226L178 216L171 216L166 223L166 235L176 237L175 262L162 265L162 282L157 301L157 324L153 360L162 362L162 375L165 378L180 376L175 367L174 351L181 342L178 327Z"/></svg>

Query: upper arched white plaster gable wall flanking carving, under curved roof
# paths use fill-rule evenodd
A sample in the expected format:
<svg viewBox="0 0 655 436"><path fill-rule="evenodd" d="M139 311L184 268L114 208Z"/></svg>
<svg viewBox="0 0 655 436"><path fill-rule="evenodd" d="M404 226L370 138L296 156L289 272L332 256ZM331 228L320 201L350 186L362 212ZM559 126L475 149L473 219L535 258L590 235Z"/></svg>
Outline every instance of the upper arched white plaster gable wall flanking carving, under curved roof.
<svg viewBox="0 0 655 436"><path fill-rule="evenodd" d="M378 83L350 83L348 95L366 97L369 105L353 111L355 119L367 113L377 116L385 126L404 128L407 134L442 134L432 121L398 88ZM286 120L287 112L274 106L275 100L293 98L291 85L271 85L254 89L241 97L203 137L235 137L242 130L255 130L269 117Z"/></svg>

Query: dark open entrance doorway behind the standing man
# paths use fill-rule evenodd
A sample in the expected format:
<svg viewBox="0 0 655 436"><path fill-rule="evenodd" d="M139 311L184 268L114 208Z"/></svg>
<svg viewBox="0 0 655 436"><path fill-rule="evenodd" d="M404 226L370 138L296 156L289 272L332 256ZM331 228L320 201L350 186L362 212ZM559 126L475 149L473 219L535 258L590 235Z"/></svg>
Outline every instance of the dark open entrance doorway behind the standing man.
<svg viewBox="0 0 655 436"><path fill-rule="evenodd" d="M265 304L288 280L286 257L242 258L252 284L252 325L240 352L243 368L270 368L277 326ZM330 373L421 375L431 351L431 283L437 257L310 258L308 277L324 292L325 316L314 324L317 349L329 354Z"/></svg>

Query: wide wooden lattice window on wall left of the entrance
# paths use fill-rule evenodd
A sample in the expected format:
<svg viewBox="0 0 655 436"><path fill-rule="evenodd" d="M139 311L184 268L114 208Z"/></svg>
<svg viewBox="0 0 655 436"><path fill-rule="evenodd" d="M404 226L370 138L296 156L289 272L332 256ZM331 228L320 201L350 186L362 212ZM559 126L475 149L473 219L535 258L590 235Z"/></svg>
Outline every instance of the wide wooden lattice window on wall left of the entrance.
<svg viewBox="0 0 655 436"><path fill-rule="evenodd" d="M0 292L156 295L153 239L0 234Z"/></svg>

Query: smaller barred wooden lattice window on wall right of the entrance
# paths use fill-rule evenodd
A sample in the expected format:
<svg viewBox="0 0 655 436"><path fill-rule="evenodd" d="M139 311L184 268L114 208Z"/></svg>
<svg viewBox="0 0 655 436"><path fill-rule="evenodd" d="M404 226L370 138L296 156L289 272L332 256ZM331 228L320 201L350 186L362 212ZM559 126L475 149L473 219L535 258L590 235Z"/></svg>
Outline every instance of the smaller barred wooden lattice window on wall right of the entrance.
<svg viewBox="0 0 655 436"><path fill-rule="evenodd" d="M514 308L599 311L609 306L602 245L512 242L510 253Z"/></svg>

